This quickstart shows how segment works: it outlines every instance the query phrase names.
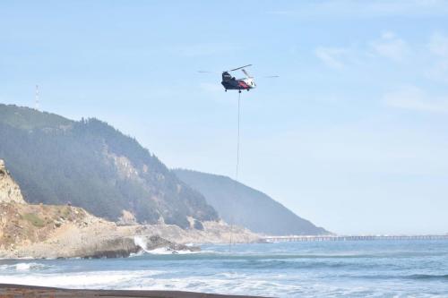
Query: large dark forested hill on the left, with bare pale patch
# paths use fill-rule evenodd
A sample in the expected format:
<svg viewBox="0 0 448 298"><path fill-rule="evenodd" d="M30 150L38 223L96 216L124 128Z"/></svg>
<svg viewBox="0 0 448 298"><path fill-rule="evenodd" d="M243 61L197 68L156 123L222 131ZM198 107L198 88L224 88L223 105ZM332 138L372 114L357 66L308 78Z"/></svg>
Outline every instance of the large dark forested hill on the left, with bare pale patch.
<svg viewBox="0 0 448 298"><path fill-rule="evenodd" d="M80 122L0 104L0 158L30 203L66 204L99 217L189 227L218 219L201 193L133 138L97 119ZM196 223L196 226L201 226Z"/></svg>

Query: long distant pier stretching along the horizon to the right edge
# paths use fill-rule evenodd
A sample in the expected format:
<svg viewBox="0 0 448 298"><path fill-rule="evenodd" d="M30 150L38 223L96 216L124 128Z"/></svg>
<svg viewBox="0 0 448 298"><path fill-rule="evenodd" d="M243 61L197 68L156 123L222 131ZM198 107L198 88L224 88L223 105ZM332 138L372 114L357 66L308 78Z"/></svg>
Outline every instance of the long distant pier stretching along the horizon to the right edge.
<svg viewBox="0 0 448 298"><path fill-rule="evenodd" d="M448 240L448 234L425 235L324 235L324 236L265 236L267 243L316 241L377 241L377 240Z"/></svg>

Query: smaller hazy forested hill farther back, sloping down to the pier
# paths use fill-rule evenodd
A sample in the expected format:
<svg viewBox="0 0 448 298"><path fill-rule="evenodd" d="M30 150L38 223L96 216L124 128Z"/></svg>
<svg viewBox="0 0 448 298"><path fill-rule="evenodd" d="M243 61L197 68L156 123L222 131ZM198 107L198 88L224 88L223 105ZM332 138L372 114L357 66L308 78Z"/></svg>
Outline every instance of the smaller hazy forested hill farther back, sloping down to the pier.
<svg viewBox="0 0 448 298"><path fill-rule="evenodd" d="M201 192L228 223L245 226L263 234L330 234L322 227L298 217L263 192L226 176L181 169L174 172L185 183Z"/></svg>

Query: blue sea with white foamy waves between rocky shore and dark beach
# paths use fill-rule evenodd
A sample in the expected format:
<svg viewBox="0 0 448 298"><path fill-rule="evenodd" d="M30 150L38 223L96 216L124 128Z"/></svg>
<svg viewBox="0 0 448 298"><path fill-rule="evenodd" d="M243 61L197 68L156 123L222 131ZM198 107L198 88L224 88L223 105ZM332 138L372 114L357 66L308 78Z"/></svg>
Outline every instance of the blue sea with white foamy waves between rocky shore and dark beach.
<svg viewBox="0 0 448 298"><path fill-rule="evenodd" d="M448 241L204 245L125 259L0 260L0 283L275 297L448 297Z"/></svg>

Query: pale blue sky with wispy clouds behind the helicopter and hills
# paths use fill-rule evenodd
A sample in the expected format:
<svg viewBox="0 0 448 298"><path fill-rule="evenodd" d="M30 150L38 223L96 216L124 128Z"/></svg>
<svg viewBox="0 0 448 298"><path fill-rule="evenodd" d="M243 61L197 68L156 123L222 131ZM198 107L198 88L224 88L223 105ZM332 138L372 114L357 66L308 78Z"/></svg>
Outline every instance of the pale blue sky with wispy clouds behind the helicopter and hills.
<svg viewBox="0 0 448 298"><path fill-rule="evenodd" d="M1 103L39 84L169 167L235 177L237 93L197 71L244 64L242 183L337 234L448 233L448 1L0 3Z"/></svg>

